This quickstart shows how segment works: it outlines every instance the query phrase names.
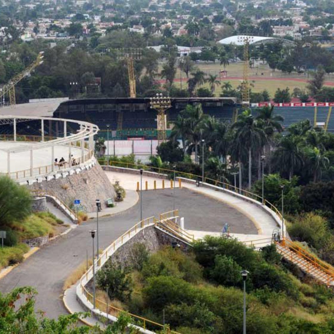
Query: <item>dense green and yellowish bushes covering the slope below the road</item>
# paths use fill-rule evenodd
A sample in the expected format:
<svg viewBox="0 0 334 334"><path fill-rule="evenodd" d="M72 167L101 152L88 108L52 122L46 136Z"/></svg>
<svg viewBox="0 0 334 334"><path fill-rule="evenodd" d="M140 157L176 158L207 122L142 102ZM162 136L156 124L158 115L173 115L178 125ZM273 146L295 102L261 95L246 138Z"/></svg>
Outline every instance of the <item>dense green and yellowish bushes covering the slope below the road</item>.
<svg viewBox="0 0 334 334"><path fill-rule="evenodd" d="M333 330L331 290L301 283L292 275L294 268L281 262L275 245L256 252L222 237L196 241L188 253L166 246L149 255L141 270L129 274L133 291L127 307L160 323L164 313L166 323L180 333L240 333L241 269L249 271L247 332ZM306 276L303 280L310 282Z"/></svg>

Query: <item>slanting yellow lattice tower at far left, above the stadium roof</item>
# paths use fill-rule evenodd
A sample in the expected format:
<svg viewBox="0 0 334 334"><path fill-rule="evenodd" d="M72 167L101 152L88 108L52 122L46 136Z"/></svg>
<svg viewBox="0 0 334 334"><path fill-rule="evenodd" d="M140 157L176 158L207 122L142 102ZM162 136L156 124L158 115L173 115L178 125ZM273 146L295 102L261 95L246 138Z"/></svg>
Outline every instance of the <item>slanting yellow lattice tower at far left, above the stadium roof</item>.
<svg viewBox="0 0 334 334"><path fill-rule="evenodd" d="M6 85L0 89L0 106L5 104L5 96L8 95L9 103L11 106L15 105L15 85L20 82L26 76L29 76L30 73L40 64L43 63L43 51L39 52L36 60L26 67L21 73L16 74L12 77Z"/></svg>

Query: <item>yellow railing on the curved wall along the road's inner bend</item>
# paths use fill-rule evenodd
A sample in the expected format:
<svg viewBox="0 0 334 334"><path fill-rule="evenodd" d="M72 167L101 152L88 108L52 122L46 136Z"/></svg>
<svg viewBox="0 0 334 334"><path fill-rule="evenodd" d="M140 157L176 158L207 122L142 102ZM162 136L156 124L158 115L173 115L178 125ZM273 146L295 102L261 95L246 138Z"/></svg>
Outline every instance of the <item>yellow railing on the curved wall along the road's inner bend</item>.
<svg viewBox="0 0 334 334"><path fill-rule="evenodd" d="M170 211L170 212L177 212L178 210L175 211ZM168 215L170 212L165 213L166 215ZM143 219L142 221L138 222L137 224L135 224L133 227L131 227L130 229L128 229L125 233L123 233L120 237L118 237L111 245L109 245L108 248L105 249L105 251L100 255L99 260L95 260L95 265L98 265L99 267L101 266L101 259L108 259L108 253L111 254L112 251L114 251L116 249L116 245L118 244L123 244L125 241L127 241L128 239L131 238L132 235L137 233L137 230L147 227L149 225L154 225L156 226L158 223L158 220L152 216L146 219ZM88 301L90 301L91 303L93 303L93 295L86 289L85 284L82 283L82 281L84 279L86 279L86 281L88 280L88 275L93 271L93 265L88 269L88 271L83 274L83 276L80 278L80 288L81 288L81 293L86 297L86 299ZM107 303L105 301L102 301L100 299L96 299L95 300L96 303L96 307L98 309L103 309L104 312L108 311L108 314L112 314L114 316L117 317L118 313L121 311L124 311L122 309L119 309L115 306L112 305L107 305ZM108 306L108 310L107 310L107 306ZM106 312L107 313L107 312ZM135 318L138 323L140 324L139 326L143 327L144 329L147 328L147 325L154 327L158 327L159 329L163 329L165 328L164 325L159 324L157 322L154 322L152 320L143 318L141 316L129 313L129 315L133 318ZM175 331L170 330L167 327L167 333L170 334L181 334Z"/></svg>

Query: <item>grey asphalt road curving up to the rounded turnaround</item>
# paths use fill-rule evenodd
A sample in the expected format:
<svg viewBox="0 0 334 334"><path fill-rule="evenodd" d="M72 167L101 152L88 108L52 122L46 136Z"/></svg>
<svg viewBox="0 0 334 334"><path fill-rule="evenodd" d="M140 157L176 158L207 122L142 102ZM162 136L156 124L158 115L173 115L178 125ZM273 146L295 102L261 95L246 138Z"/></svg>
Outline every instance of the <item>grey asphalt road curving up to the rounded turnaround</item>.
<svg viewBox="0 0 334 334"><path fill-rule="evenodd" d="M171 189L143 192L143 217L172 210L172 193ZM175 208L179 208L180 216L185 217L188 229L221 231L227 222L231 232L257 234L253 223L234 208L190 190L175 189ZM139 221L139 217L140 202L116 216L100 218L99 247L107 247ZM46 312L50 318L67 313L62 303L63 283L86 260L87 249L92 257L89 230L95 227L96 220L91 219L44 246L0 280L0 291L7 293L17 286L33 286L38 291L36 310Z"/></svg>

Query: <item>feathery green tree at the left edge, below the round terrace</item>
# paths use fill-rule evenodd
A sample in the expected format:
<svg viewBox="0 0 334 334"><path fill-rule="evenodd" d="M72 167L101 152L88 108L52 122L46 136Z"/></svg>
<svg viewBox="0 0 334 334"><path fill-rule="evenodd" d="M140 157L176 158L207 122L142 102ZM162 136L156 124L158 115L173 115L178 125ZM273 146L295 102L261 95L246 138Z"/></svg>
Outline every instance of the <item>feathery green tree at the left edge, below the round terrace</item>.
<svg viewBox="0 0 334 334"><path fill-rule="evenodd" d="M24 219L31 212L29 190L7 176L0 177L0 226Z"/></svg>

